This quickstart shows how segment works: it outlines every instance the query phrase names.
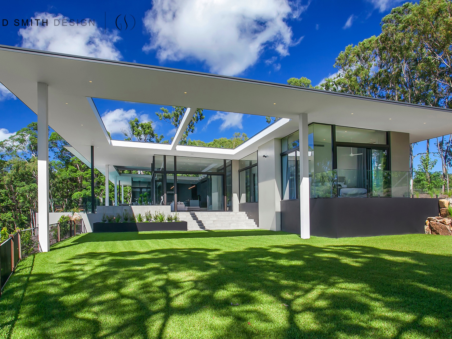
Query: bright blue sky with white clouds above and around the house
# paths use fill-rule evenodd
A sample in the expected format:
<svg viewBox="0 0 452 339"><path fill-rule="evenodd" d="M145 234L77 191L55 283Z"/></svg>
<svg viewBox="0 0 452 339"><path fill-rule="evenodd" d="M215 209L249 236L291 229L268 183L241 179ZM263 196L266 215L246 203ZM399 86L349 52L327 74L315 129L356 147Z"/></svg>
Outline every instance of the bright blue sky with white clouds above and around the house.
<svg viewBox="0 0 452 339"><path fill-rule="evenodd" d="M0 44L277 83L286 83L290 77L306 76L317 85L334 74L333 64L339 52L348 44L379 34L381 18L402 2L154 0L109 1L107 4L98 1L5 1L0 12L3 24L0 26ZM21 26L22 19L31 18L47 18L48 26ZM62 26L65 19L73 19L76 23L87 18L94 20L95 26ZM127 29L124 29L124 18ZM4 19L8 20L7 25ZM19 26L14 25L16 19ZM58 26L55 26L56 22ZM136 114L155 116L153 108L146 108L150 110L146 113L140 104L128 103L121 107L116 104L118 102L102 105L99 113L136 109ZM133 108L133 105L137 107ZM36 121L33 112L2 88L0 114L0 138ZM209 117L216 114L206 112ZM242 117L238 121L237 116L224 114L227 113L211 119L208 129L199 128L204 130L203 140L231 137L233 132L251 136L257 131L247 127L259 126L261 129L266 125L262 119L246 123L251 118ZM206 118L204 123L208 121ZM228 127L224 128L225 125ZM193 138L198 139L195 135ZM419 143L415 153L424 149L425 142ZM437 168L440 170L439 166Z"/></svg>

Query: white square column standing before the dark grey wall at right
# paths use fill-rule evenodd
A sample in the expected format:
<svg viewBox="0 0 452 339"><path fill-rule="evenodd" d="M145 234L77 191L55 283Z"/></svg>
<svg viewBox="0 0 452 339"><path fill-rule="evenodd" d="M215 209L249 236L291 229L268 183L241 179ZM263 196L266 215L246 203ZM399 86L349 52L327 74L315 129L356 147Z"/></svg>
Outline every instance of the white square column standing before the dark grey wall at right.
<svg viewBox="0 0 452 339"><path fill-rule="evenodd" d="M308 168L308 115L301 113L298 118L300 133L300 236L309 239L309 168Z"/></svg>

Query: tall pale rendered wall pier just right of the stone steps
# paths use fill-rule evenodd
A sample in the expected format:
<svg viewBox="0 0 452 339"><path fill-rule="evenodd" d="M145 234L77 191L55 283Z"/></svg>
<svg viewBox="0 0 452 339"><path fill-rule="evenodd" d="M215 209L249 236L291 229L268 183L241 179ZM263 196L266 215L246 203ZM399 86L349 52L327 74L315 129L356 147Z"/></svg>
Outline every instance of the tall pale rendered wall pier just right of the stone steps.
<svg viewBox="0 0 452 339"><path fill-rule="evenodd" d="M258 147L259 228L265 230L281 231L280 154L281 139Z"/></svg>

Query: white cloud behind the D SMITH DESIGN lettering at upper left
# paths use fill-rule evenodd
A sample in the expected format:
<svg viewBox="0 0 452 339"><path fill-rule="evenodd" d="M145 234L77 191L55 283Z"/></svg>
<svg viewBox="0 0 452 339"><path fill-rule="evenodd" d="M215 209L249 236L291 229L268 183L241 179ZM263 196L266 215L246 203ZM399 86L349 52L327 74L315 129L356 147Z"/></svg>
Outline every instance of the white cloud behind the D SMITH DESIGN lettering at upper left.
<svg viewBox="0 0 452 339"><path fill-rule="evenodd" d="M55 25L55 20L62 23L63 19L69 19L62 14L35 13L34 18L47 19L48 24L19 29L22 47L110 60L122 58L114 46L120 39L117 33L104 33L94 25Z"/></svg>

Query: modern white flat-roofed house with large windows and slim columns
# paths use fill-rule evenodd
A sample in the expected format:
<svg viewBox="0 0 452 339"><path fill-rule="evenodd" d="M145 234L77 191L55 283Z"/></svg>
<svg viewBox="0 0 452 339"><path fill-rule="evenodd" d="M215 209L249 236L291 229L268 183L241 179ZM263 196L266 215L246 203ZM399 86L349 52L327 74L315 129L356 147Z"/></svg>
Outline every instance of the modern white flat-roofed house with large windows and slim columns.
<svg viewBox="0 0 452 339"><path fill-rule="evenodd" d="M412 198L410 143L450 133L451 110L9 46L0 46L0 82L38 115L43 251L47 126L115 190L132 186L140 208L245 212L261 229L302 238L423 233L438 214L436 199ZM187 109L170 144L120 141L93 98ZM279 119L234 149L179 145L197 108Z"/></svg>

